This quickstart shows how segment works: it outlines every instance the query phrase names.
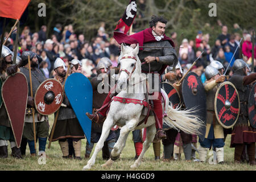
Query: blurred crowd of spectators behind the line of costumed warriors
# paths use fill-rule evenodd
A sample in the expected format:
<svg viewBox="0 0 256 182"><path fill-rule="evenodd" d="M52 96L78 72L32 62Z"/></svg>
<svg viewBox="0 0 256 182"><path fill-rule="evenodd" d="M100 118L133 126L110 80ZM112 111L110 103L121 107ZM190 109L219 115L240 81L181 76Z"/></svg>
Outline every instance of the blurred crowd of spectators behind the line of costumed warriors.
<svg viewBox="0 0 256 182"><path fill-rule="evenodd" d="M221 32L217 38L210 37L208 32L198 31L195 39L184 38L179 44L176 32L167 35L174 40L175 46L180 45L181 47L176 51L184 72L200 56L201 51L204 51L192 69L193 72L201 76L203 82L205 81L204 68L212 60L220 61L224 67L228 67L231 61L229 68L232 68L236 59L244 59L249 65L251 64L253 31L241 30L237 23L234 24L232 31L229 31L225 25L221 24L220 26ZM58 23L49 32L51 34L47 36L47 26L45 25L40 28L39 32L31 32L30 28L26 26L23 28L18 41L18 56L22 55L23 51L28 50L37 53L42 58L40 69L47 78L51 78L55 74L53 64L57 57L63 59L66 64L72 59L80 60L83 65L82 73L86 77L96 75L96 65L102 57L109 57L113 67L118 64L119 44L113 37L106 34L104 22L98 28L97 36L91 40L86 39L83 34L76 34L72 24L63 27ZM243 39L240 43L241 38ZM209 45L209 39L214 39L214 45ZM13 49L14 42L15 33L10 36L6 46ZM233 56L237 46L238 50ZM254 50L256 52L256 46L254 46ZM254 58L256 58L256 53L254 53ZM255 60L254 65L256 65ZM231 69L228 70L228 74L232 75Z"/></svg>

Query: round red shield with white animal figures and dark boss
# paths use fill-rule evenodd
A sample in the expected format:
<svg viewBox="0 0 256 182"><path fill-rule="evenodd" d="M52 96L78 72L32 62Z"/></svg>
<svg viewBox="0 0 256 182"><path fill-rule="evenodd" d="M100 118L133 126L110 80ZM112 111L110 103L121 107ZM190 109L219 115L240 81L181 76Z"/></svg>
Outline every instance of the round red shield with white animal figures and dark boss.
<svg viewBox="0 0 256 182"><path fill-rule="evenodd" d="M55 113L63 102L63 87L60 81L49 78L39 85L35 93L35 107L38 113Z"/></svg>

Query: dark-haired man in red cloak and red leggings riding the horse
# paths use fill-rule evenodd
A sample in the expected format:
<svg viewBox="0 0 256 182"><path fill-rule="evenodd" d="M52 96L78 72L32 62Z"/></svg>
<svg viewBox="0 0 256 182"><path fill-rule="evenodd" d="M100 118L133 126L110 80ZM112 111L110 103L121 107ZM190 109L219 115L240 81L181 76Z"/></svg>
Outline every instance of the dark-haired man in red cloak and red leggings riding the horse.
<svg viewBox="0 0 256 182"><path fill-rule="evenodd" d="M153 15L150 21L150 28L138 32L136 34L126 36L124 34L114 34L115 40L119 44L126 43L130 44L131 47L135 47L137 43L139 46L144 46L144 48L140 48L138 53L139 59L142 62L142 72L143 73L151 73L152 76L157 76L160 78L164 69L166 69L167 65L175 66L177 64L177 55L174 50L174 43L170 38L168 38L164 32L166 30L166 23L167 20L163 17ZM117 33L117 32L115 32ZM147 47L146 47L147 46ZM149 48L148 48L149 47ZM147 64L143 64L147 63ZM166 134L164 134L162 127L163 127L163 109L162 109L162 102L161 102L161 92L160 92L160 81L158 85L154 84L154 79L152 79L152 86L154 88L154 92L152 94L158 96L154 100L152 100L154 105L154 113L158 119L156 122L156 129L157 129L157 137L158 139L166 138ZM96 114L89 114L86 115L92 119L94 122L103 122L104 118L106 117L106 112L109 109L109 102L112 100L109 93L108 97L104 101L102 108Z"/></svg>

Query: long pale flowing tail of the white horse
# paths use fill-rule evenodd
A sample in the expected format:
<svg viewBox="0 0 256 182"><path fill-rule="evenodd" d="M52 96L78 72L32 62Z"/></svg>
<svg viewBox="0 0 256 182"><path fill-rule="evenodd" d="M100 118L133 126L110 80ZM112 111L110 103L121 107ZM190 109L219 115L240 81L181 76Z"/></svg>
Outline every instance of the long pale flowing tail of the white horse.
<svg viewBox="0 0 256 182"><path fill-rule="evenodd" d="M174 109L169 105L163 121L167 126L174 129L180 129L188 134L201 135L199 129L204 127L204 122L196 115L192 115L193 111L195 109L181 110L180 107Z"/></svg>

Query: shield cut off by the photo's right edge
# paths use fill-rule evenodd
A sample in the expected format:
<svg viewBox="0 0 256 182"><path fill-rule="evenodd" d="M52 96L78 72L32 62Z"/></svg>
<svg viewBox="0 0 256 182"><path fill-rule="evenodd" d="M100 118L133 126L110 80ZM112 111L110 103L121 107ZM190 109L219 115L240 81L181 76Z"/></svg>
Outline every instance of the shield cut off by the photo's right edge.
<svg viewBox="0 0 256 182"><path fill-rule="evenodd" d="M251 126L256 129L255 104L256 104L256 83L253 85L253 88L251 89L251 93L250 93L249 101L248 101L249 121L250 121Z"/></svg>

